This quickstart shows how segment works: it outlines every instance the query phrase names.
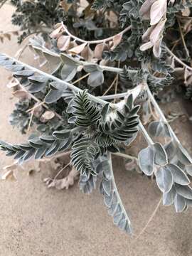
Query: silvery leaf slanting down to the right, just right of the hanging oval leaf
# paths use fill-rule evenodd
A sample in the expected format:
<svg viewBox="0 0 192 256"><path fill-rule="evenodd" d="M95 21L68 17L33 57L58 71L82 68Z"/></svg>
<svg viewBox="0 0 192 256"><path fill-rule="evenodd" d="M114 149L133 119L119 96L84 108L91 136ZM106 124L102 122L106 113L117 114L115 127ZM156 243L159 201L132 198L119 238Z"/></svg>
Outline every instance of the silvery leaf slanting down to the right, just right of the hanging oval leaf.
<svg viewBox="0 0 192 256"><path fill-rule="evenodd" d="M181 185L188 185L190 183L190 180L188 176L182 171L178 166L175 164L167 164L166 168L171 171L171 174L174 177L174 182L181 184Z"/></svg>

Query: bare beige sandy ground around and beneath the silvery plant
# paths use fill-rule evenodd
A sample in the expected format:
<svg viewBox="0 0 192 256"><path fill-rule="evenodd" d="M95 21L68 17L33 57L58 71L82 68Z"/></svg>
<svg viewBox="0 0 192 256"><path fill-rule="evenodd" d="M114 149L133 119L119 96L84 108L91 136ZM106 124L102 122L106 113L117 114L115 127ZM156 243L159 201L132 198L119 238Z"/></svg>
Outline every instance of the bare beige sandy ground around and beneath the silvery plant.
<svg viewBox="0 0 192 256"><path fill-rule="evenodd" d="M10 22L12 11L11 6L0 10L0 31L16 29ZM0 52L14 56L16 50L16 38L0 43ZM24 60L33 63L31 55L27 56ZM0 68L0 139L23 142L25 137L8 122L15 102L6 87L9 75ZM183 131L183 142L191 146L191 127L181 120L175 126ZM0 169L12 163L2 152L0 159ZM154 181L126 171L118 160L113 161L114 175L137 235L156 208L161 193ZM113 225L98 191L85 196L77 184L69 191L48 189L42 182L45 175L46 170L42 170L33 177L23 173L15 182L1 181L1 256L192 255L192 209L176 214L173 207L160 206L145 233L134 241L134 237Z"/></svg>

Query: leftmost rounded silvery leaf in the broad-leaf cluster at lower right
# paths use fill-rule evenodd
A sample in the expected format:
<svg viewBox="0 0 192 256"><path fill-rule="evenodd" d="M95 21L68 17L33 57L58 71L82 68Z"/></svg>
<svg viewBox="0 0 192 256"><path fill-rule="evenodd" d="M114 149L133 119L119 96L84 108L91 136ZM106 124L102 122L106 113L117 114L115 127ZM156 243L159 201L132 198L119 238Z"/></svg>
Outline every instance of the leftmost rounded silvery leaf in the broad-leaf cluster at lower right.
<svg viewBox="0 0 192 256"><path fill-rule="evenodd" d="M147 176L151 176L154 172L154 155L154 149L151 146L139 152L139 167Z"/></svg>

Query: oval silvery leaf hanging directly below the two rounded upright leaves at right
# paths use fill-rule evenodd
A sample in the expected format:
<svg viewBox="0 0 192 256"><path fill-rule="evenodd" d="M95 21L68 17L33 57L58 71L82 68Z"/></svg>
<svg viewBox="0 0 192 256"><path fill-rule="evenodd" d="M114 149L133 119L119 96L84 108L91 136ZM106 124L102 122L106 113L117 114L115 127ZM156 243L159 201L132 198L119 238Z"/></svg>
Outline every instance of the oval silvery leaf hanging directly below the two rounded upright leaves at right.
<svg viewBox="0 0 192 256"><path fill-rule="evenodd" d="M161 166L159 170L156 171L156 183L163 193L167 193L171 190L174 184L174 178L171 171L169 171L166 166Z"/></svg>

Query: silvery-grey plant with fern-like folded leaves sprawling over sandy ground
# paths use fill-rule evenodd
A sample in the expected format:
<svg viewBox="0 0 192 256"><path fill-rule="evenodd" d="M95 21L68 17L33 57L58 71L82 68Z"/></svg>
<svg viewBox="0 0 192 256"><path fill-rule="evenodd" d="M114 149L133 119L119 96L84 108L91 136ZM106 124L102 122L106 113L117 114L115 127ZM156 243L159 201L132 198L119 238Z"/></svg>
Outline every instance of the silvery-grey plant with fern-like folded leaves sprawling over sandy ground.
<svg viewBox="0 0 192 256"><path fill-rule="evenodd" d="M164 87L174 86L178 69L191 73L186 64L190 54L187 59L177 57L169 49L167 35L171 27L178 28L182 14L188 11L190 16L192 4L187 0L86 3L81 7L79 1L65 1L65 8L78 13L76 17L73 13L73 28L61 22L49 42L40 36L30 38L29 47L46 71L1 53L0 65L14 73L15 84L10 87L19 98L10 121L22 132L36 124L38 132L25 143L1 141L0 146L17 164L70 152L73 167L68 180L48 178L48 186L68 188L79 175L80 190L91 193L100 182L114 224L132 233L114 181L112 154L131 159L146 176L155 176L165 206L174 204L180 213L192 205L191 156L155 98ZM112 31L117 33L112 36ZM148 146L139 149L138 156L129 156L124 149L139 131Z"/></svg>

